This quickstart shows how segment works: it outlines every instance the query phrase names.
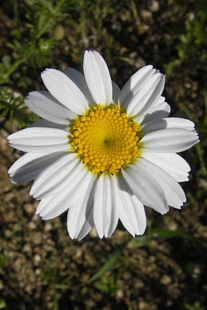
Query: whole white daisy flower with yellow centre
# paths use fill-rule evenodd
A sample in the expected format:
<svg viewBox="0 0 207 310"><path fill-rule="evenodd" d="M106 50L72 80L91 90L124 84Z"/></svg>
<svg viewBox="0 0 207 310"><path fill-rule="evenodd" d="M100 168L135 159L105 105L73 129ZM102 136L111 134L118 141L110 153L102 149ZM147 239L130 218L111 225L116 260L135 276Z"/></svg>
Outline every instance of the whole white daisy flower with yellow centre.
<svg viewBox="0 0 207 310"><path fill-rule="evenodd" d="M8 136L26 152L10 177L34 180L30 194L41 200L43 220L68 210L70 238L81 240L94 225L100 238L109 237L119 219L132 236L144 234L144 205L165 214L186 202L179 182L190 167L175 153L199 142L194 123L168 117L165 76L152 65L121 91L98 52L85 52L83 72L41 74L48 92L30 92L25 101L41 119Z"/></svg>

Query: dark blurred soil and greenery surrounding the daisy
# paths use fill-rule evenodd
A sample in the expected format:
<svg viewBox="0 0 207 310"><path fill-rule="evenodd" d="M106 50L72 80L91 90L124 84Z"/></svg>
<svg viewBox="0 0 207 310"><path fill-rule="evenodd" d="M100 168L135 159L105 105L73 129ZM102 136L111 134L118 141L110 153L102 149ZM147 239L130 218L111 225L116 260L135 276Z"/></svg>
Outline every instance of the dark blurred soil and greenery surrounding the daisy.
<svg viewBox="0 0 207 310"><path fill-rule="evenodd" d="M0 309L206 310L206 0L0 3ZM41 221L30 185L7 175L21 154L6 136L37 119L23 99L43 89L44 68L82 70L87 48L120 87L146 64L166 73L171 115L195 121L201 137L183 155L187 203L166 216L146 208L148 229L135 239L119 224L108 239L70 240L66 214Z"/></svg>

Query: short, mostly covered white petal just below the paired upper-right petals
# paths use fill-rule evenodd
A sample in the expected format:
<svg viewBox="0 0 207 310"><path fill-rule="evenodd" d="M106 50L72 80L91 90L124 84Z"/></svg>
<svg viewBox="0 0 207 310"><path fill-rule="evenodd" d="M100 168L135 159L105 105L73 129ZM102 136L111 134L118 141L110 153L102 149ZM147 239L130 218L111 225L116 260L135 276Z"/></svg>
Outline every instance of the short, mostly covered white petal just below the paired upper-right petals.
<svg viewBox="0 0 207 310"><path fill-rule="evenodd" d="M161 101L164 97L159 97L158 102L152 105L150 111L143 116L137 116L136 121L139 121L140 125L144 125L150 121L159 121L161 118L166 118L170 114L170 105L168 103Z"/></svg>

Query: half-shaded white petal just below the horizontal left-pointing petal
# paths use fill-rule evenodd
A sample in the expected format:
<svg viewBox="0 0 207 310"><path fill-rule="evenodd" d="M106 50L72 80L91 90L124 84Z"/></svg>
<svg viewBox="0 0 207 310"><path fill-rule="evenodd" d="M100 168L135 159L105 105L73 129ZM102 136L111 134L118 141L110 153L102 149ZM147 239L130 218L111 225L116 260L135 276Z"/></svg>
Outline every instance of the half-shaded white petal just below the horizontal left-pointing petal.
<svg viewBox="0 0 207 310"><path fill-rule="evenodd" d="M63 156L62 152L52 154L28 153L21 156L10 167L8 173L14 183L28 182L34 180L48 165Z"/></svg>

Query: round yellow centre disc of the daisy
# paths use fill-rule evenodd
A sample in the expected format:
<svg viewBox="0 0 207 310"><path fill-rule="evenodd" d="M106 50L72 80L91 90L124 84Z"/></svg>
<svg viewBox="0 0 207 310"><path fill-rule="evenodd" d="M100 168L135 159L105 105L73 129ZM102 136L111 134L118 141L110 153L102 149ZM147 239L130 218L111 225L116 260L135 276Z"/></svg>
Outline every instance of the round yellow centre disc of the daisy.
<svg viewBox="0 0 207 310"><path fill-rule="evenodd" d="M70 144L92 172L119 172L140 156L140 125L118 105L96 105L72 125Z"/></svg>

